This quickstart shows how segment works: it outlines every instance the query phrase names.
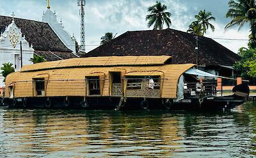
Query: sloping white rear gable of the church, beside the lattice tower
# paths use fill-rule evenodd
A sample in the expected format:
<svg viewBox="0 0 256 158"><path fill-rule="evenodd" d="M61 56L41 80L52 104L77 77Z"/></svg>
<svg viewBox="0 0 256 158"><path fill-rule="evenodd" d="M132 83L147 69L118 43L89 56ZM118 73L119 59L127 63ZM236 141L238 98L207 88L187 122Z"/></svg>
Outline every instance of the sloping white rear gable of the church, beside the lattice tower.
<svg viewBox="0 0 256 158"><path fill-rule="evenodd" d="M68 49L76 54L76 38L74 36L70 36L70 34L64 30L62 23L57 21L56 14L52 13L50 8L48 8L44 13L42 22L47 22L56 33L56 35L58 35L61 42L63 42L65 46L68 47Z"/></svg>

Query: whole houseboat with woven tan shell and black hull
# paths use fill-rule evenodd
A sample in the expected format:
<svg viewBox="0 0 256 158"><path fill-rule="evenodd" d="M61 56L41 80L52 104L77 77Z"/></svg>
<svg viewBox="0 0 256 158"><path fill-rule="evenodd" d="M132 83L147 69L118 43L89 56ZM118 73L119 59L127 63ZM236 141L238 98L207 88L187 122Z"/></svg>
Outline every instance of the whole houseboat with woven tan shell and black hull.
<svg viewBox="0 0 256 158"><path fill-rule="evenodd" d="M230 109L243 104L248 86L216 97L216 83L200 83L194 64L171 56L72 58L26 65L6 77L9 107L84 109ZM241 88L243 87L243 88ZM245 87L245 88L244 88Z"/></svg>

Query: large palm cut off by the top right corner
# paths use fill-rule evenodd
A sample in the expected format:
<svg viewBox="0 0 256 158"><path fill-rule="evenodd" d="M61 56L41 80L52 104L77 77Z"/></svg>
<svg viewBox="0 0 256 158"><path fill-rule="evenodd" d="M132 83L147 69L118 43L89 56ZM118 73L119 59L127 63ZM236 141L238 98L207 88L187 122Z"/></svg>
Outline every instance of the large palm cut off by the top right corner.
<svg viewBox="0 0 256 158"><path fill-rule="evenodd" d="M256 48L256 1L255 0L230 0L228 2L226 17L232 19L225 29L232 26L239 26L238 31L244 24L250 23L250 45Z"/></svg>

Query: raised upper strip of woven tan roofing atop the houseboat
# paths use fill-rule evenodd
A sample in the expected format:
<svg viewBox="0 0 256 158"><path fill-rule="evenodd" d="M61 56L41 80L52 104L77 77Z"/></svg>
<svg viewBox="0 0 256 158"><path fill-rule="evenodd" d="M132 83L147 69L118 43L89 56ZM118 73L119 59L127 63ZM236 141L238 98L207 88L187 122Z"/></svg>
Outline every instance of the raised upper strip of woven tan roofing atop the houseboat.
<svg viewBox="0 0 256 158"><path fill-rule="evenodd" d="M59 61L36 63L22 67L21 72L48 70L68 67L111 67L111 66L143 66L164 65L171 63L171 56L104 56L90 58L72 58Z"/></svg>

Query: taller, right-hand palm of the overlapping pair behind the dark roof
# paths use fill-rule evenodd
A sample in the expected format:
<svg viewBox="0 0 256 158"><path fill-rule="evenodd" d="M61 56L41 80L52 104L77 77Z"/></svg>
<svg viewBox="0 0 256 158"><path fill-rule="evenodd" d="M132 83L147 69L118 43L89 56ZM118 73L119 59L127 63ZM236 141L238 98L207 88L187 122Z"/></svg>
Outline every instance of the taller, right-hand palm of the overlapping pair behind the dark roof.
<svg viewBox="0 0 256 158"><path fill-rule="evenodd" d="M196 21L198 21L198 24L202 27L202 33L206 33L208 28L212 29L212 32L214 32L214 26L209 22L211 20L215 21L215 17L212 17L211 12L205 12L205 10L200 10L198 15L195 15Z"/></svg>

